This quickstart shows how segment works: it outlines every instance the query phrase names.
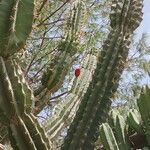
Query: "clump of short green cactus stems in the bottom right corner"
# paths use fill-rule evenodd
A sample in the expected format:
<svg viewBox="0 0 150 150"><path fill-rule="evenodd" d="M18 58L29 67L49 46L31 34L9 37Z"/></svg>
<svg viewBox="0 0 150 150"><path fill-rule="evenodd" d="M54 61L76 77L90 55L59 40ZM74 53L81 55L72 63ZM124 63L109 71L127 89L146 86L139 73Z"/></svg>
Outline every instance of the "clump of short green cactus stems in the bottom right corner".
<svg viewBox="0 0 150 150"><path fill-rule="evenodd" d="M146 88L143 89L140 97L137 99L139 111L136 109L130 109L125 121L123 121L123 117L115 114L115 111L111 112L111 121L109 121L107 128L110 125L113 133L108 134L104 132L104 129L100 129L100 139L104 148L111 149L110 147L112 143L110 143L110 139L112 139L112 134L114 135L113 141L116 141L119 149L129 149L129 147L134 149L141 149L144 147L150 147L149 93L150 89L148 86L146 86ZM125 123L126 127L124 126ZM105 124L102 126L104 125ZM124 130L125 128L126 130ZM130 133L130 129L132 129L132 133ZM103 138L104 133L109 136L107 139ZM109 148L107 148L108 146Z"/></svg>

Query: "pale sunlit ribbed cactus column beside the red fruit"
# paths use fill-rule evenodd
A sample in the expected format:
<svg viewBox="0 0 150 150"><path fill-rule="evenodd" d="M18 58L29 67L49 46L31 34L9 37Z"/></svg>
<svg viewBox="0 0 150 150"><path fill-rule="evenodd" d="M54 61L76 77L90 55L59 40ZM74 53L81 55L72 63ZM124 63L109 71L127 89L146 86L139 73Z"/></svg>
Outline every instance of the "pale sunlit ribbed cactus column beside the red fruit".
<svg viewBox="0 0 150 150"><path fill-rule="evenodd" d="M80 101L86 92L92 73L96 66L96 56L88 54L81 64L81 75L78 77L75 85L69 94L55 106L54 115L47 119L43 124L51 141L55 141L61 129L67 123L70 124Z"/></svg>

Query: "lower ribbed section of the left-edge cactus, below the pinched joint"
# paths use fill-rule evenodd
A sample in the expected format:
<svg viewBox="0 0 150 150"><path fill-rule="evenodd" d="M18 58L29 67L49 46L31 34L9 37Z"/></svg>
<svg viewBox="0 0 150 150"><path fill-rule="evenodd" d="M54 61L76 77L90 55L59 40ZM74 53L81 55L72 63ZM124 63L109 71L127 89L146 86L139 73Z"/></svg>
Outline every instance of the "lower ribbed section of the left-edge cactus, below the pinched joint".
<svg viewBox="0 0 150 150"><path fill-rule="evenodd" d="M35 121L30 117L31 106L26 109L26 97L23 85L16 73L16 67L11 59L0 62L1 88L1 122L8 128L9 139L13 148L19 149L50 149L48 140L42 138ZM9 94L9 95L8 95ZM33 99L30 100L33 101ZM29 113L30 112L30 113ZM46 137L46 135L45 135Z"/></svg>

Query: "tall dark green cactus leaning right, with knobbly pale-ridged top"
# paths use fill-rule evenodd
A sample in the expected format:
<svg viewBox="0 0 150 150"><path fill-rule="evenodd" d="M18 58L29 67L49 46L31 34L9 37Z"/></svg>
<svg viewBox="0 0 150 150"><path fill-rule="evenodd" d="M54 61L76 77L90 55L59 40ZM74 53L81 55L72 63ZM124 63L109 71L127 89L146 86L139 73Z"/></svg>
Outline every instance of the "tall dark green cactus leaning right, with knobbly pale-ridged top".
<svg viewBox="0 0 150 150"><path fill-rule="evenodd" d="M111 96L118 87L131 36L142 20L142 7L143 0L113 1L108 39L62 150L94 149L99 124L106 120Z"/></svg>

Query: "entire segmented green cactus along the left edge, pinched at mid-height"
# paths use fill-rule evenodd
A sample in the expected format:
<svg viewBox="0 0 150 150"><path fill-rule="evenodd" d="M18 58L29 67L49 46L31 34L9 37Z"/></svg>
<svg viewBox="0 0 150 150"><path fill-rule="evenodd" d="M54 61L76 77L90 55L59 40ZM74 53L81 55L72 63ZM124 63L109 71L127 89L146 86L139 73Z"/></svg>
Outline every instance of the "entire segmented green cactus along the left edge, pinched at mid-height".
<svg viewBox="0 0 150 150"><path fill-rule="evenodd" d="M32 114L33 93L11 57L25 45L33 14L34 0L0 2L0 122L7 128L14 150L51 149Z"/></svg>

